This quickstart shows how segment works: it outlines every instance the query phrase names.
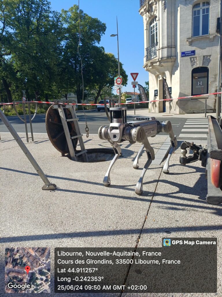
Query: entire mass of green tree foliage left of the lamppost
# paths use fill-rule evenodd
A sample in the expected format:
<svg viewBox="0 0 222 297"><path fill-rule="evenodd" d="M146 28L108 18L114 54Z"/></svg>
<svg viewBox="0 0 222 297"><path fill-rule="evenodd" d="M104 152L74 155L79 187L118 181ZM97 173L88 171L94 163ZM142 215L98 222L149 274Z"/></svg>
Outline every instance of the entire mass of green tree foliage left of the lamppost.
<svg viewBox="0 0 222 297"><path fill-rule="evenodd" d="M28 99L73 92L81 102L84 87L84 98L93 95L97 102L112 93L118 63L99 46L105 30L82 10L79 23L77 5L59 13L47 0L1 0L0 99L18 100L25 90ZM121 63L120 69L126 85Z"/></svg>

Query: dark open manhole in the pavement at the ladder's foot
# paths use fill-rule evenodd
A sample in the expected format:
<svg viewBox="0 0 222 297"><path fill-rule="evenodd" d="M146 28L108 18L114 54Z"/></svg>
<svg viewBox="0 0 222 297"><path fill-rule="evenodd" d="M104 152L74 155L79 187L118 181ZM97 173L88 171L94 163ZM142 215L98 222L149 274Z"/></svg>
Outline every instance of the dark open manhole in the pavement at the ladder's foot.
<svg viewBox="0 0 222 297"><path fill-rule="evenodd" d="M79 151L80 152L80 151ZM78 154L78 151L77 151ZM87 149L88 163L111 161L115 155L113 149ZM70 154L67 155L70 158ZM71 158L70 158L71 159ZM83 155L76 158L77 162L85 162Z"/></svg>

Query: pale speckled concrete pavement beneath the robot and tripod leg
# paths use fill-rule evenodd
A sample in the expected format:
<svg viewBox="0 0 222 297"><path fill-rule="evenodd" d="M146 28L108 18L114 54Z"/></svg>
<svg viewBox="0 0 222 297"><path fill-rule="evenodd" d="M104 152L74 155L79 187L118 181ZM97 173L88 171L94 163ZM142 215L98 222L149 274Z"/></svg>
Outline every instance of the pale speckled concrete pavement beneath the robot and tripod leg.
<svg viewBox="0 0 222 297"><path fill-rule="evenodd" d="M25 135L21 136L25 141ZM149 138L155 153L166 138L165 135ZM218 293L204 296L222 296L222 205L206 203L205 168L200 162L181 166L180 149L177 149L170 160L170 173L163 174L163 163L151 165L144 177L144 193L138 196L134 189L147 159L146 154L142 154L139 169L133 169L139 143L124 142L121 145L123 157L112 168L111 186L104 187L102 181L110 161L74 162L61 157L46 134L34 134L34 140L37 141L25 142L25 145L58 189L41 190L41 178L12 136L4 133L4 139L0 141L0 292L4 292L6 247L51 247L50 296L67 297L74 295L53 293L54 247L135 247L136 244L139 247L161 247L162 238L170 236L218 238ZM110 148L107 141L99 140L96 135L90 135L88 139L83 136L83 140L86 149ZM122 296L137 295L203 296L182 293Z"/></svg>

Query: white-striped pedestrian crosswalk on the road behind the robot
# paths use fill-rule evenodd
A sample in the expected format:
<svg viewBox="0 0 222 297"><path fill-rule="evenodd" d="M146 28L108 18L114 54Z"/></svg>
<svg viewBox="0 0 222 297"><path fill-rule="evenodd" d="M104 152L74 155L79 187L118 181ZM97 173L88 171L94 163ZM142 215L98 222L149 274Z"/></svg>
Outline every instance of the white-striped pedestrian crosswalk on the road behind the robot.
<svg viewBox="0 0 222 297"><path fill-rule="evenodd" d="M185 132L185 133L184 133ZM189 132L189 133L187 133ZM207 139L208 120L207 119L187 119L181 134L178 138L205 138Z"/></svg>

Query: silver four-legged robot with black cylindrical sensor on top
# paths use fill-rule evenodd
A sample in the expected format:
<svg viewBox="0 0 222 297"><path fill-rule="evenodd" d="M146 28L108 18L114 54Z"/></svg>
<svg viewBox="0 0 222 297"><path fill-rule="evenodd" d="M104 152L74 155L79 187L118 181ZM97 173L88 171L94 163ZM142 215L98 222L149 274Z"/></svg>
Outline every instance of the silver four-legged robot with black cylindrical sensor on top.
<svg viewBox="0 0 222 297"><path fill-rule="evenodd" d="M106 102L104 102L106 105ZM149 168L152 160L155 159L154 149L149 143L149 137L155 137L160 132L166 132L170 136L171 149L163 167L164 173L169 173L169 161L173 152L177 147L177 139L173 133L172 125L170 121L160 122L155 117L135 118L134 121L127 122L126 120L127 107L114 107L110 108L110 125L101 126L98 130L98 136L100 139L108 140L111 144L115 156L112 159L106 175L103 179L103 184L108 187L111 184L110 171L116 160L121 156L121 148L119 143L128 140L133 144L136 142L142 143L142 146L133 162L133 168L139 168L139 156L145 148L147 153L147 162L142 170L138 183L136 184L135 193L142 195L143 193L143 178Z"/></svg>

